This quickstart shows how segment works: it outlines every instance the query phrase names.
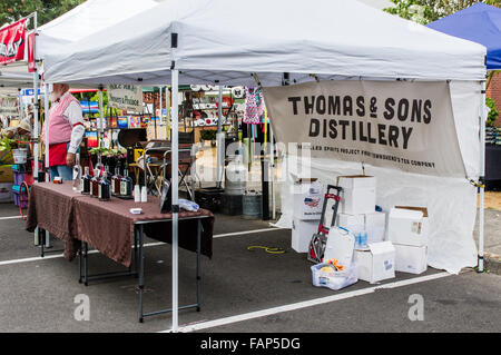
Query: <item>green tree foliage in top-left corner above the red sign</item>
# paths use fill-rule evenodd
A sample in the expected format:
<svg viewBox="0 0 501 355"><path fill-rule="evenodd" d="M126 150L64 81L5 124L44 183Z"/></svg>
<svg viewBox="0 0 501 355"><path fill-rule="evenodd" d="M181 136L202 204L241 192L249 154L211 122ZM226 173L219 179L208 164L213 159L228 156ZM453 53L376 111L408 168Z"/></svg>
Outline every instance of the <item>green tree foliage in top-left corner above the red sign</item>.
<svg viewBox="0 0 501 355"><path fill-rule="evenodd" d="M37 11L38 26L71 10L85 0L1 0L0 26L19 20Z"/></svg>

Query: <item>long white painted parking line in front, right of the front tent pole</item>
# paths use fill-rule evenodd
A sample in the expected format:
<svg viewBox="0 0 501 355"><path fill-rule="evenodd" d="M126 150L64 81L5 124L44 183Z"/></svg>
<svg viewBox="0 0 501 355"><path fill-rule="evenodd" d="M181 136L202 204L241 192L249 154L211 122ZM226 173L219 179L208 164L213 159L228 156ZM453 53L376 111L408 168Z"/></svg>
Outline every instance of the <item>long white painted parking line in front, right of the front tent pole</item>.
<svg viewBox="0 0 501 355"><path fill-rule="evenodd" d="M363 289L342 293L338 295L314 298L314 299L310 299L310 300L303 300L303 302L298 302L298 303L284 305L284 306L278 306L278 307L273 307L273 308L267 308L267 309L262 309L262 310L256 310L256 312L250 312L250 313L244 313L240 315L219 318L219 319L215 319L215 321L188 324L188 325L180 326L178 331L181 333L189 333L189 332L203 331L203 329L208 329L208 328L215 328L215 327L219 327L219 326L224 326L224 325L228 325L228 324L233 324L233 323L239 323L239 322L262 318L262 317L275 315L278 313L292 312L292 310L318 306L318 305L323 305L323 304L327 304L327 303L332 303L332 302L336 302L336 300L341 300L341 299L347 299L347 298L353 298L353 297L357 297L357 296L369 295L369 294L374 293L377 289L403 287L403 286L424 283L424 282L429 282L429 280L433 280L433 279L438 279L438 278L442 278L442 277L446 277L446 276L451 276L451 274L443 272L443 273L438 273L438 274L433 274L433 275L419 276L419 277L414 277L411 279L389 283L389 284L384 284L384 285L371 286L371 287L366 287ZM163 331L159 333L170 333L170 332L171 332L171 329L167 329L167 331Z"/></svg>

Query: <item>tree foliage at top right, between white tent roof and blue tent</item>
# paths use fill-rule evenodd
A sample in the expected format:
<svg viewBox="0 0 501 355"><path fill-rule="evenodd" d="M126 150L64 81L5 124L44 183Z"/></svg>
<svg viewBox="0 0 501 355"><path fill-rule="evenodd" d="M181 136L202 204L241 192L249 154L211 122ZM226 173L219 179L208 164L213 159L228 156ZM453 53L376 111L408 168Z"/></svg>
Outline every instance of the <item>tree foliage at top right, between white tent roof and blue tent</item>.
<svg viewBox="0 0 501 355"><path fill-rule="evenodd" d="M404 19L426 24L451 13L463 10L479 0L392 0L394 8L387 12ZM500 8L501 0L484 0L487 4Z"/></svg>

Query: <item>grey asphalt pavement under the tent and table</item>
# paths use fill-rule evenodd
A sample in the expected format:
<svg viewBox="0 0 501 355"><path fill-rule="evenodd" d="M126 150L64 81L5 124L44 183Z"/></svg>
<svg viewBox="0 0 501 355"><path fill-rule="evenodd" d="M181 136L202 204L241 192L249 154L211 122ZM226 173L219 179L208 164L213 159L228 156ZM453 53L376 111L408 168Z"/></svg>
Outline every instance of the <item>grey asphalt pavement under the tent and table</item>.
<svg viewBox="0 0 501 355"><path fill-rule="evenodd" d="M23 230L23 221L1 219L16 215L10 205L0 206L0 332L170 329L169 314L138 323L136 278L95 282L86 287L78 283L76 262L65 260L59 253L37 258L39 249L32 234ZM429 268L423 275L397 273L381 285L358 282L332 292L312 286L311 264L305 255L291 249L291 231L268 228L263 221L216 216L214 257L203 257L202 263L202 309L179 313L183 331L501 331L501 276L474 272L451 276ZM232 235L239 231L248 233ZM53 244L55 249L61 246L57 240ZM287 253L247 250L252 245L277 246ZM170 253L169 245L145 248L146 312L170 306ZM194 253L179 250L180 305L195 300L195 260ZM91 273L117 269L122 267L100 254L90 255ZM76 317L82 296L89 300L89 321ZM422 299L419 314L423 321L409 317L415 297Z"/></svg>

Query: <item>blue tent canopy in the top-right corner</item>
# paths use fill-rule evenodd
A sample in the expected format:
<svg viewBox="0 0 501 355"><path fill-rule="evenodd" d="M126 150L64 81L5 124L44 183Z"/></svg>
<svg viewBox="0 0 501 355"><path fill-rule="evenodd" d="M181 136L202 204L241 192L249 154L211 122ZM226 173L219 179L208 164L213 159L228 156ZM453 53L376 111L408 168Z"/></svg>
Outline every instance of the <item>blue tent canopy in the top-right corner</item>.
<svg viewBox="0 0 501 355"><path fill-rule="evenodd" d="M483 45L487 69L501 69L501 9L478 2L464 10L429 23L440 32Z"/></svg>

